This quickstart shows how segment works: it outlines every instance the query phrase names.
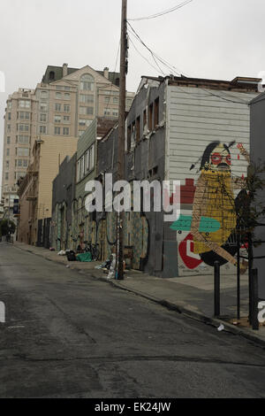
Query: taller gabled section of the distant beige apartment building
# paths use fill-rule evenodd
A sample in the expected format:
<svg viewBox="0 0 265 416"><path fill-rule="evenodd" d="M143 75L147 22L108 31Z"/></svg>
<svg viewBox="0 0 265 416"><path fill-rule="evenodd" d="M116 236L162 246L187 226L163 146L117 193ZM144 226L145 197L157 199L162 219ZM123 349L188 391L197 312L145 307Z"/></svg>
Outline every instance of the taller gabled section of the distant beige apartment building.
<svg viewBox="0 0 265 416"><path fill-rule="evenodd" d="M38 132L42 135L80 136L95 117L118 117L119 73L91 66L69 68L49 65L37 85ZM126 110L133 102L128 92Z"/></svg>

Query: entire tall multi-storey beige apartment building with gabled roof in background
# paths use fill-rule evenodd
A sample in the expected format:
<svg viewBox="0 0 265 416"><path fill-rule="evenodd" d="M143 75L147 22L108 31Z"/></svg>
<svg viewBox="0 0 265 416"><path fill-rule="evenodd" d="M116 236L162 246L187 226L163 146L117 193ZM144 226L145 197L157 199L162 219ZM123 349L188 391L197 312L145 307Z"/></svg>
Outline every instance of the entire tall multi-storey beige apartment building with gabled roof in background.
<svg viewBox="0 0 265 416"><path fill-rule="evenodd" d="M37 138L79 137L95 117L117 118L119 73L108 68L47 66L36 89L19 89L7 100L4 123L2 196L14 198L19 177L25 176ZM127 93L126 110L133 102ZM12 190L11 190L12 189Z"/></svg>

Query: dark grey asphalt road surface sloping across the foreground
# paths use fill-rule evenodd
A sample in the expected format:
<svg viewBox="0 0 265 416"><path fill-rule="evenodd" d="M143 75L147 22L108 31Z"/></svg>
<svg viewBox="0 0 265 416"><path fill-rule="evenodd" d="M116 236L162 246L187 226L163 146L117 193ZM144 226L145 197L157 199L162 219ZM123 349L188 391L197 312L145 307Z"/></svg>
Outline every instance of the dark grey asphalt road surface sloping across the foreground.
<svg viewBox="0 0 265 416"><path fill-rule="evenodd" d="M265 397L264 350L0 243L0 397Z"/></svg>

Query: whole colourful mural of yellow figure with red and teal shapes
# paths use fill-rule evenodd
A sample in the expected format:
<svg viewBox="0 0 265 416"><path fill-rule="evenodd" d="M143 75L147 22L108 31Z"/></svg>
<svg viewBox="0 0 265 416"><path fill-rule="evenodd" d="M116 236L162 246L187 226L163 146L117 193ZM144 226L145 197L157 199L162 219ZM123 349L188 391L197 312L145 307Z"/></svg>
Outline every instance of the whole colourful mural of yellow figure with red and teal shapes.
<svg viewBox="0 0 265 416"><path fill-rule="evenodd" d="M244 193L245 180L244 175L231 174L234 144L209 143L197 162L200 167L196 188L193 179L187 179L186 187L181 190L182 205L187 210L170 228L178 231L179 258L189 270L200 265L214 266L216 260L221 266L237 265L237 205ZM237 147L239 157L242 155L249 163L244 146L239 143ZM192 165L190 170L195 167ZM235 197L236 191L239 194ZM246 266L246 261L242 262L241 273L246 271Z"/></svg>

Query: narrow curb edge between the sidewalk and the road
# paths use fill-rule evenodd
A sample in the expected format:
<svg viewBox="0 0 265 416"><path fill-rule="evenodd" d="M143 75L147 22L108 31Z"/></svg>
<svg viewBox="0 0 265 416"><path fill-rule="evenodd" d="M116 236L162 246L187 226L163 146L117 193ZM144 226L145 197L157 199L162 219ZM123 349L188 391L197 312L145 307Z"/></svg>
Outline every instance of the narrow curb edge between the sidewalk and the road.
<svg viewBox="0 0 265 416"><path fill-rule="evenodd" d="M57 260L56 258L47 258L45 256L45 254L43 253L36 253L34 252L34 250L29 250L27 248L23 248L19 245L14 244L14 247L20 249L20 250L24 250L27 251L31 254L34 254L35 256L39 256L42 258L45 258L48 261L53 261L57 264L60 264L62 266L65 266L64 262ZM70 267L71 270L75 270L79 273L85 274L87 275L87 270L85 269L79 269L78 267ZM115 287L117 289L122 289L122 290L126 290L127 292L133 293L134 295L140 296L140 297L144 297L152 302L154 302L155 304L160 304L162 306L164 306L165 308L169 309L170 311L176 311L180 314L183 314L184 316L186 316L187 318L193 319L193 320L198 320L206 325L211 325L212 327L219 327L220 324L223 324L224 332L228 332L230 334L233 335L240 335L244 338L246 338L248 341L251 341L253 343L258 344L259 346L261 346L262 348L265 348L265 340L262 340L259 336L254 335L254 334L249 334L247 333L244 329L240 328L240 327L235 327L233 325L231 325L229 322L222 320L222 318L217 319L217 318L210 318L206 315L204 315L201 312L197 312L197 311L193 311L191 309L186 308L185 306L179 305L179 304L173 304L165 299L160 299L157 297L153 297L151 295L148 295L146 293L140 292L140 290L137 289L130 289L130 288L126 288L123 284L121 284L119 281L115 280L115 279L111 279L108 280L107 278L103 277L101 274L96 275L95 274L95 270L91 269L89 271L90 276L93 277L94 279L98 280L98 281L102 281L105 283L109 283L112 287Z"/></svg>

